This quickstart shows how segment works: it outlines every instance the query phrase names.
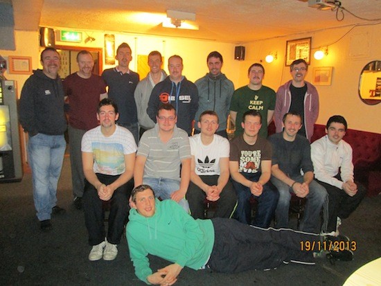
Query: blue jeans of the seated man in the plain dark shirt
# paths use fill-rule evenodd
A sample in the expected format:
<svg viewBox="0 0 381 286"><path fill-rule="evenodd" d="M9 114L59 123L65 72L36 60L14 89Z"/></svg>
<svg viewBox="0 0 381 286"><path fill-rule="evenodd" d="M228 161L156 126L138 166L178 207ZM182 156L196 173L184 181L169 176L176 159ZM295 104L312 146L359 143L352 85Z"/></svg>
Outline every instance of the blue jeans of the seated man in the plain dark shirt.
<svg viewBox="0 0 381 286"><path fill-rule="evenodd" d="M292 178L294 181L303 183L303 176L299 175ZM276 206L275 218L276 228L287 228L288 225L288 209L290 208L290 199L292 188L283 181L271 178L272 184L276 186L279 192L278 206ZM307 202L305 203L303 220L301 221L300 230L310 233L320 233L320 220L319 215L321 207L323 206L328 196L326 189L319 185L317 181L312 181L309 185L310 192L305 197Z"/></svg>

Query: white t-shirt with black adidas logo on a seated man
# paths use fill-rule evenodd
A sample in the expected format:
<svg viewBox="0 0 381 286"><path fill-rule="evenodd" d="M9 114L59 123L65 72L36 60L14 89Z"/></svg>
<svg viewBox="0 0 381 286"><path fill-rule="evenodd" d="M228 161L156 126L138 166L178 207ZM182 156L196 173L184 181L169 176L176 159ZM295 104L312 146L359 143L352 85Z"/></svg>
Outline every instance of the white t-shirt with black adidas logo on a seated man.
<svg viewBox="0 0 381 286"><path fill-rule="evenodd" d="M190 153L195 157L195 172L199 176L220 175L220 158L229 158L227 138L214 134L212 143L202 144L201 134L189 137Z"/></svg>

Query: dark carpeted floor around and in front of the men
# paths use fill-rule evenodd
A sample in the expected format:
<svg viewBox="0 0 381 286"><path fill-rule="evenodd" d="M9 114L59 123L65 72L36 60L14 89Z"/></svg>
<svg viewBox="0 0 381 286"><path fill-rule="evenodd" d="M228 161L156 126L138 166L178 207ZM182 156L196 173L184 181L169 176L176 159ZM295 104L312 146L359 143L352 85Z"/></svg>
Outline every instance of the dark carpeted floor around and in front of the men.
<svg viewBox="0 0 381 286"><path fill-rule="evenodd" d="M71 202L69 158L64 161L58 204L67 213L53 217L53 231L42 233L35 217L30 174L20 183L0 184L0 285L145 285L134 275L123 238L116 260L90 262L91 247L82 211ZM175 285L342 285L353 271L381 256L381 196L365 197L340 231L357 243L354 260L331 265L282 265L271 271L218 274L206 270L181 271ZM168 265L150 257L152 269Z"/></svg>

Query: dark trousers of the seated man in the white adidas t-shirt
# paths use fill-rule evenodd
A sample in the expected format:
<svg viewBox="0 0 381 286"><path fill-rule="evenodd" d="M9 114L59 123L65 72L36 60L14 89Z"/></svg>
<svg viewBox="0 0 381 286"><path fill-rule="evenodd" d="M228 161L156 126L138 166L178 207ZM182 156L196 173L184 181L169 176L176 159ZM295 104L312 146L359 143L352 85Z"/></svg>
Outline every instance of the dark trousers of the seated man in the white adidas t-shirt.
<svg viewBox="0 0 381 286"><path fill-rule="evenodd" d="M209 186L217 185L218 178L220 176L200 176L202 181ZM186 199L189 203L190 215L193 218L204 219L204 200L206 193L198 186L190 182L188 191L186 192ZM220 199L217 201L217 209L214 213L214 217L231 217L234 207L237 204L237 196L234 191L233 185L229 180L226 186L222 189L220 193Z"/></svg>

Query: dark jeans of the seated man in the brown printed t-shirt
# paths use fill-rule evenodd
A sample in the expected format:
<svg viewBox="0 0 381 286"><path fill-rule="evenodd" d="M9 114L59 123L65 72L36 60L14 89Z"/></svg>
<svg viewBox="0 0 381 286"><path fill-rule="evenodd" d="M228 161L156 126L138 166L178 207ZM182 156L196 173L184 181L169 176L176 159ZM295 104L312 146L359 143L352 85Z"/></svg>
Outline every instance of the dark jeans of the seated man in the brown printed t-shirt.
<svg viewBox="0 0 381 286"><path fill-rule="evenodd" d="M260 177L260 173L241 174L250 181L258 181ZM252 224L254 226L260 226L264 228L269 227L269 224L274 217L274 211L278 202L278 192L276 192L276 190L273 188L270 188L269 184L265 184L263 185L262 194L260 196L255 196L251 194L250 189L247 186L243 186L234 180L231 181L233 182L233 186L236 189L238 197L238 205L235 213L235 217L238 222L251 224L250 197L253 196L258 199L258 209Z"/></svg>

